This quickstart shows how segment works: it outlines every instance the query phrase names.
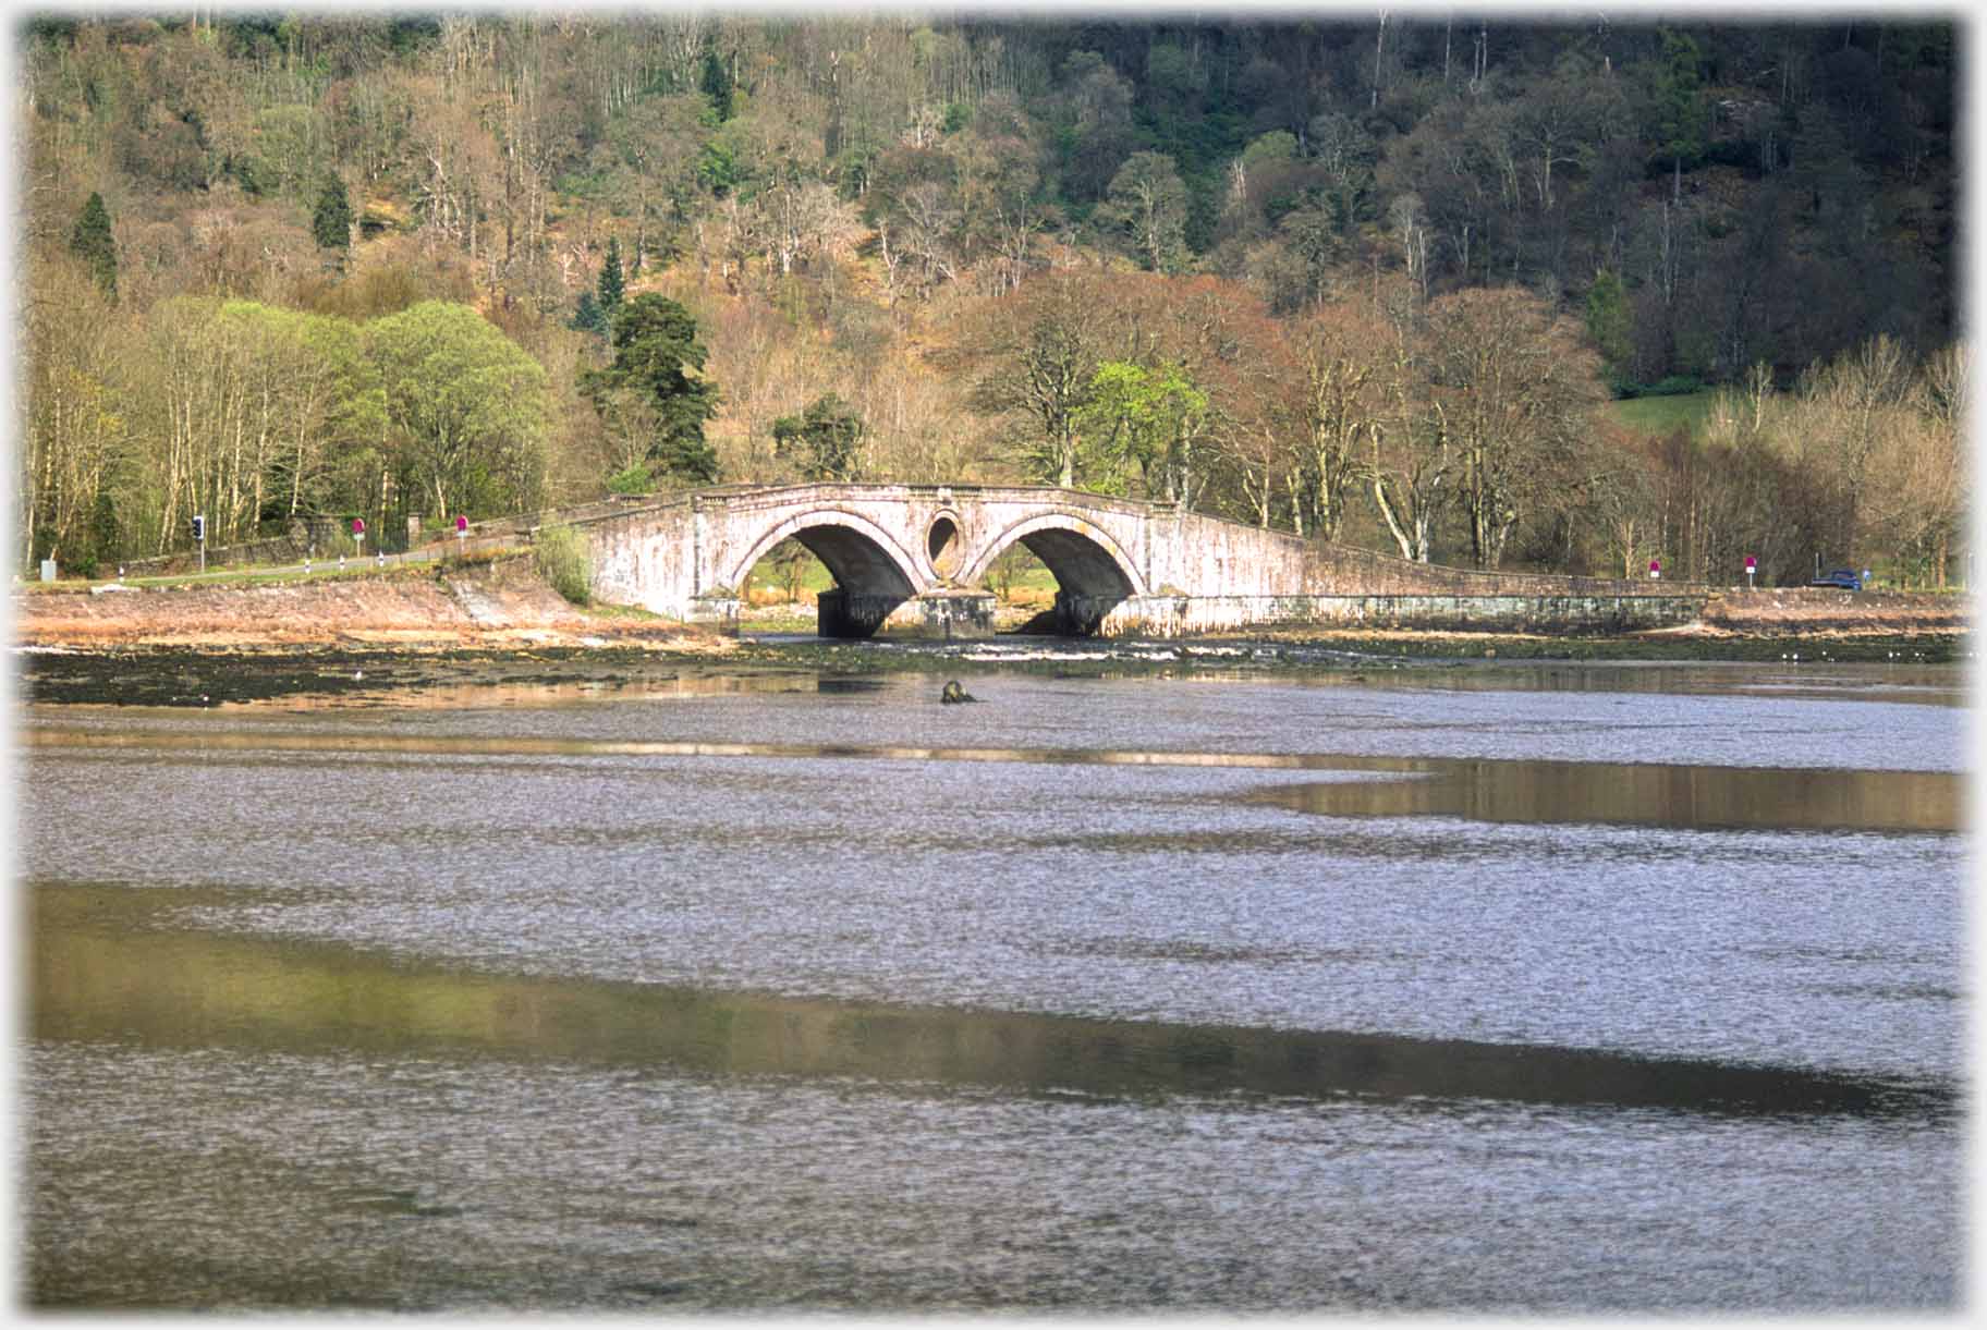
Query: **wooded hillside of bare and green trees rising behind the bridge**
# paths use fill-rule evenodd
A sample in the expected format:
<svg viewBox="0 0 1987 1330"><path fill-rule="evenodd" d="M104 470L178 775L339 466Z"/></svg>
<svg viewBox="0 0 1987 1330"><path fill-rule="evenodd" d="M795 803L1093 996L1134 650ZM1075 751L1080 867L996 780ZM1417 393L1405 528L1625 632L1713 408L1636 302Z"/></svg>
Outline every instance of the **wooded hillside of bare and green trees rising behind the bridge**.
<svg viewBox="0 0 1987 1330"><path fill-rule="evenodd" d="M14 50L22 569L811 477L1486 569L1963 553L1949 16L195 6Z"/></svg>

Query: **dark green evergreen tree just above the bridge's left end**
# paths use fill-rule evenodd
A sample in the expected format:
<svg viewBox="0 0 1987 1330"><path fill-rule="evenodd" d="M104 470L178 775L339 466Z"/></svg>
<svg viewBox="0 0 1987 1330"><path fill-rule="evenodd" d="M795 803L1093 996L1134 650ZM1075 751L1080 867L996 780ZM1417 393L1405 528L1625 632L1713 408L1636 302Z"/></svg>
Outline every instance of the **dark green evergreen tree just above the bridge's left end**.
<svg viewBox="0 0 1987 1330"><path fill-rule="evenodd" d="M703 439L703 421L717 414L717 384L701 376L705 348L697 320L676 300L644 292L624 302L608 342L614 362L584 370L580 394L602 419L622 417L618 398L646 410L650 439L644 459L689 485L717 479L717 453Z"/></svg>

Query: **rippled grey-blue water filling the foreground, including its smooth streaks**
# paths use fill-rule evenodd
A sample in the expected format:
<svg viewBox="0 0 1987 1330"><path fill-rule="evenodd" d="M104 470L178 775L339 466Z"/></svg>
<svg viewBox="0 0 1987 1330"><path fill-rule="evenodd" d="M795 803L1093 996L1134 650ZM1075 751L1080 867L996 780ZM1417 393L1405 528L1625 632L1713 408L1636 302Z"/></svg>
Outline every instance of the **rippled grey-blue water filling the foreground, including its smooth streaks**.
<svg viewBox="0 0 1987 1330"><path fill-rule="evenodd" d="M1951 1310L1953 668L28 708L24 1292Z"/></svg>

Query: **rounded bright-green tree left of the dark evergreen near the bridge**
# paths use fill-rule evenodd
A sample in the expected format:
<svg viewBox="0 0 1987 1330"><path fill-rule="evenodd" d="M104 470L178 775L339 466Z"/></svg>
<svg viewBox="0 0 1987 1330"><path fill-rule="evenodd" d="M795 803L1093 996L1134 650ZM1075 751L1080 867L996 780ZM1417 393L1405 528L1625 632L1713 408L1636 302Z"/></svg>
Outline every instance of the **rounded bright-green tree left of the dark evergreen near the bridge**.
<svg viewBox="0 0 1987 1330"><path fill-rule="evenodd" d="M544 368L467 304L423 300L366 324L395 471L429 511L515 513L544 483Z"/></svg>

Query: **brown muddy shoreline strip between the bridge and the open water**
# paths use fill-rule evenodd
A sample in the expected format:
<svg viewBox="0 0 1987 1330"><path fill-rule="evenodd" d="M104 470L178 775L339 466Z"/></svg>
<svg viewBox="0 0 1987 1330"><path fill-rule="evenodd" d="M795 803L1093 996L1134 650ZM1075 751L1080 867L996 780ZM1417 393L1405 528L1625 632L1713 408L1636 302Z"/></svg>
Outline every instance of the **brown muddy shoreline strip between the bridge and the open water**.
<svg viewBox="0 0 1987 1330"><path fill-rule="evenodd" d="M610 606L578 608L529 561L240 586L16 592L14 660L32 702L221 706L286 696L364 700L407 688L648 686L688 674L874 674L1023 668L1055 674L1375 668L1582 660L1949 662L1967 652L1963 596L1760 590L1701 622L1619 636L1260 630L1180 642L823 642L785 620L729 636Z"/></svg>

